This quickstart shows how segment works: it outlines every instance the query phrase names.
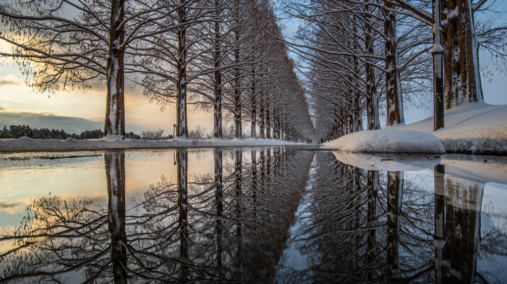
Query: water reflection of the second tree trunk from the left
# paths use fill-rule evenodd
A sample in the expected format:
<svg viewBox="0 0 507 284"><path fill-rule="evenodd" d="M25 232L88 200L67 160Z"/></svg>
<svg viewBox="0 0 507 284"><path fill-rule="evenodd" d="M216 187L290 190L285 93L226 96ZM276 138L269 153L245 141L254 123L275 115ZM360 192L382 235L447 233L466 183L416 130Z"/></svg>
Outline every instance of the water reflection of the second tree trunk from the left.
<svg viewBox="0 0 507 284"><path fill-rule="evenodd" d="M188 278L188 152L187 149L176 150L177 185L178 185L178 227L179 227L179 257L183 265L180 267L179 280L184 282Z"/></svg>

